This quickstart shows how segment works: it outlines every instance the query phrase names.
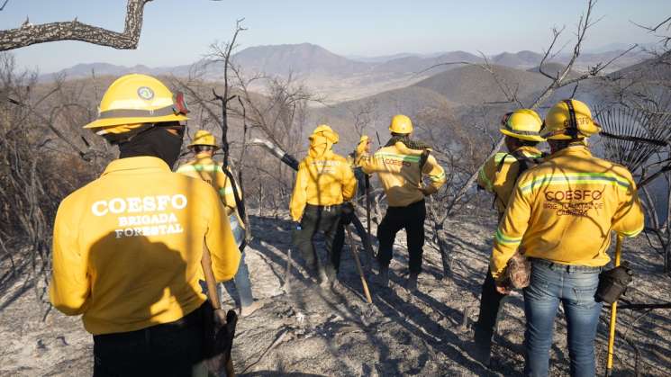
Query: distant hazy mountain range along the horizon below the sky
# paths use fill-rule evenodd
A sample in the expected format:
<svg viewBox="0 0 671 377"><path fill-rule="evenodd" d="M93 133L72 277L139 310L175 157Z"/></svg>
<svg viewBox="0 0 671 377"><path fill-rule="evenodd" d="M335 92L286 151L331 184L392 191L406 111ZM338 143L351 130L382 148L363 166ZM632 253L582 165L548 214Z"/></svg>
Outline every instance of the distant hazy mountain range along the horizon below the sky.
<svg viewBox="0 0 671 377"><path fill-rule="evenodd" d="M585 53L577 60L576 69L585 69L587 66L598 62L608 61L621 52L621 50L617 49L600 53ZM614 62L610 69L617 70L627 67L642 61L646 57L647 55L643 51L631 51L630 54ZM486 58L490 63L495 65L528 69L537 67L540 64L542 55L537 52L523 50L519 52L502 52ZM566 63L567 59L567 56L560 55L554 61L557 63ZM389 76L416 76L418 73L426 71L431 67L433 67L430 70L432 74L458 67L459 64L457 63L482 63L485 61L485 57L466 51L450 51L426 55L401 53L385 57L347 58L334 54L320 46L302 43L249 47L236 53L233 61L239 64L246 72L265 73L274 76L288 76L289 74L296 77L320 76L336 78L371 76L384 80L385 77ZM202 63L202 61L195 64L199 63ZM146 67L138 65L124 67L108 63L88 63L68 67L56 73L41 75L41 80L48 81L55 75L65 75L69 78L86 77L90 76L92 72L95 72L96 75L114 76L130 72L187 76L192 67L193 65L174 67ZM216 78L222 74L221 67L217 67L216 65L208 65L206 71L205 76L211 78Z"/></svg>

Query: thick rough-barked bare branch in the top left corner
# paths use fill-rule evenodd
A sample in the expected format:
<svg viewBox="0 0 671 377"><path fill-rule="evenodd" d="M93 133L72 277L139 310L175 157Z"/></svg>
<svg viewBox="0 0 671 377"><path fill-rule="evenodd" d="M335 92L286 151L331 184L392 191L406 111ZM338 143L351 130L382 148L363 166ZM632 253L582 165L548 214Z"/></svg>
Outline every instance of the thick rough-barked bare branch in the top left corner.
<svg viewBox="0 0 671 377"><path fill-rule="evenodd" d="M114 49L136 49L142 30L144 5L150 1L128 0L123 32L109 31L78 22L77 18L70 22L50 22L41 25L32 25L26 20L19 28L0 31L0 51L56 40L81 40Z"/></svg>

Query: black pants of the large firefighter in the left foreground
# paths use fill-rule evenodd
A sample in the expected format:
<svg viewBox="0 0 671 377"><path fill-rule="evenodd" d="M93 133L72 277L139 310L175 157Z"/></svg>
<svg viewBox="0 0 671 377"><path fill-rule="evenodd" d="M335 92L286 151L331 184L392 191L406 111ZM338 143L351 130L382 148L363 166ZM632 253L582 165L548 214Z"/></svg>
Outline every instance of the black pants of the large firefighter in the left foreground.
<svg viewBox="0 0 671 377"><path fill-rule="evenodd" d="M203 360L203 312L201 307L175 322L94 336L94 377L191 376Z"/></svg>

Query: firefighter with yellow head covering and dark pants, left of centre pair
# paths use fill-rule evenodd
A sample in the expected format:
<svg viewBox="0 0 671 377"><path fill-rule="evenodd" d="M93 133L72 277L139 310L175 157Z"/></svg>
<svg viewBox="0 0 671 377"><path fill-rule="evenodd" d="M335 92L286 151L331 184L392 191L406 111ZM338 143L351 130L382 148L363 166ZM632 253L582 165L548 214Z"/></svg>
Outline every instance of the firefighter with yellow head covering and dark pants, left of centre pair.
<svg viewBox="0 0 671 377"><path fill-rule="evenodd" d="M300 222L294 243L305 263L319 274L322 286L326 286L336 283L340 249L333 247L333 242L340 226L342 205L354 197L357 180L347 159L332 150L339 137L331 127L318 126L309 139L308 155L298 166L290 210L292 219ZM313 237L318 231L324 234L330 261L325 268L319 263L313 246Z"/></svg>

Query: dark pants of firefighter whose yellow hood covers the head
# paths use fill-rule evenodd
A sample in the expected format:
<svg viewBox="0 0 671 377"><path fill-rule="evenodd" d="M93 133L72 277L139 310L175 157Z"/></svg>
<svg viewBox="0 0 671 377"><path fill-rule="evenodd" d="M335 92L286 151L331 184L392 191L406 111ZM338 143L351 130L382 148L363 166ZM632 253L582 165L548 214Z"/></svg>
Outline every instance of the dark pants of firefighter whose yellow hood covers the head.
<svg viewBox="0 0 671 377"><path fill-rule="evenodd" d="M318 206L308 204L303 211L301 219L301 230L295 237L296 247L301 252L307 265L313 266L316 270L319 266L317 252L314 249L313 238L318 231L324 234L324 244L326 244L326 254L331 262L326 266L326 274L329 279L335 279L340 267L340 251L342 250L342 241L340 245L334 245L336 233L340 228L340 205Z"/></svg>

